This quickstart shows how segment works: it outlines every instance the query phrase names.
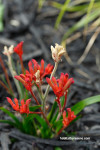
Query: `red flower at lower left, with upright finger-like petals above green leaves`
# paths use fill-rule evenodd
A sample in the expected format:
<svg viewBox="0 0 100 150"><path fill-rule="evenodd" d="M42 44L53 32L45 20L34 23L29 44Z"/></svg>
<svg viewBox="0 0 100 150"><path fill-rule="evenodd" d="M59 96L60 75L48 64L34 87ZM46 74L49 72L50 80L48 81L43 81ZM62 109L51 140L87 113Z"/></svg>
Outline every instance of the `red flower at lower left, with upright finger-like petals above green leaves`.
<svg viewBox="0 0 100 150"><path fill-rule="evenodd" d="M11 104L11 106L14 110L20 112L21 114L23 114L23 113L26 113L26 114L32 113L32 112L29 111L29 104L31 102L30 99L26 100L26 103L22 99L21 100L21 106L19 106L17 98L14 98L15 104L13 103L13 101L9 97L7 97L7 101Z"/></svg>

